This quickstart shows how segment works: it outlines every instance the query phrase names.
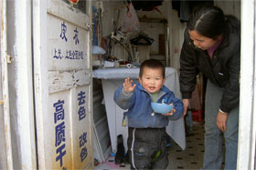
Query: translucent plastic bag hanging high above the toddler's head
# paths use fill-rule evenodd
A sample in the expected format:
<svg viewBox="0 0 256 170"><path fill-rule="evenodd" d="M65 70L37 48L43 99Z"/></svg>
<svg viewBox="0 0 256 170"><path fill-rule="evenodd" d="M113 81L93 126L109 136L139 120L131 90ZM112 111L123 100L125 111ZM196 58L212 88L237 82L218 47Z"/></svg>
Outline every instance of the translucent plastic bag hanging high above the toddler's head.
<svg viewBox="0 0 256 170"><path fill-rule="evenodd" d="M118 28L122 32L140 30L140 22L132 3L120 10L118 25Z"/></svg>

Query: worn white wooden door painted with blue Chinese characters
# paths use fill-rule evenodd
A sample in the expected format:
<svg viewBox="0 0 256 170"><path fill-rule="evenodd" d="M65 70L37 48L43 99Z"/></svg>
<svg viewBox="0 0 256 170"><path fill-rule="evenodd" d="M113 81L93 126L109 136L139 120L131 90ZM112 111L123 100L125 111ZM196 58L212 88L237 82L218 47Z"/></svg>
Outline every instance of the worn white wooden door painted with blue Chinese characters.
<svg viewBox="0 0 256 170"><path fill-rule="evenodd" d="M91 167L90 15L67 0L33 11L38 167Z"/></svg>

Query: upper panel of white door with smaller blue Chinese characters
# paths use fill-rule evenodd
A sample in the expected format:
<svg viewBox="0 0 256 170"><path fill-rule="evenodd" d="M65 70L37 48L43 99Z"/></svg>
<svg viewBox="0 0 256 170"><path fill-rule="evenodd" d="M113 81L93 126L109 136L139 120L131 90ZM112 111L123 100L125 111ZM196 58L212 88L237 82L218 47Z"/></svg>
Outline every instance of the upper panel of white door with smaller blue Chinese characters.
<svg viewBox="0 0 256 170"><path fill-rule="evenodd" d="M88 69L88 31L48 15L48 70Z"/></svg>

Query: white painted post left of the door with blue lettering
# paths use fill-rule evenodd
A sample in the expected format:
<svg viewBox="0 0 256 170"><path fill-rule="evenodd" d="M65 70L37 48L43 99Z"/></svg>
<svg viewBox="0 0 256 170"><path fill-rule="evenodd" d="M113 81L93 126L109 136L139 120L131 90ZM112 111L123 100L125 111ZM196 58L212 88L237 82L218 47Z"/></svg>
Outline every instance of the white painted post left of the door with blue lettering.
<svg viewBox="0 0 256 170"><path fill-rule="evenodd" d="M7 1L9 105L14 169L36 168L33 112L31 2Z"/></svg>

